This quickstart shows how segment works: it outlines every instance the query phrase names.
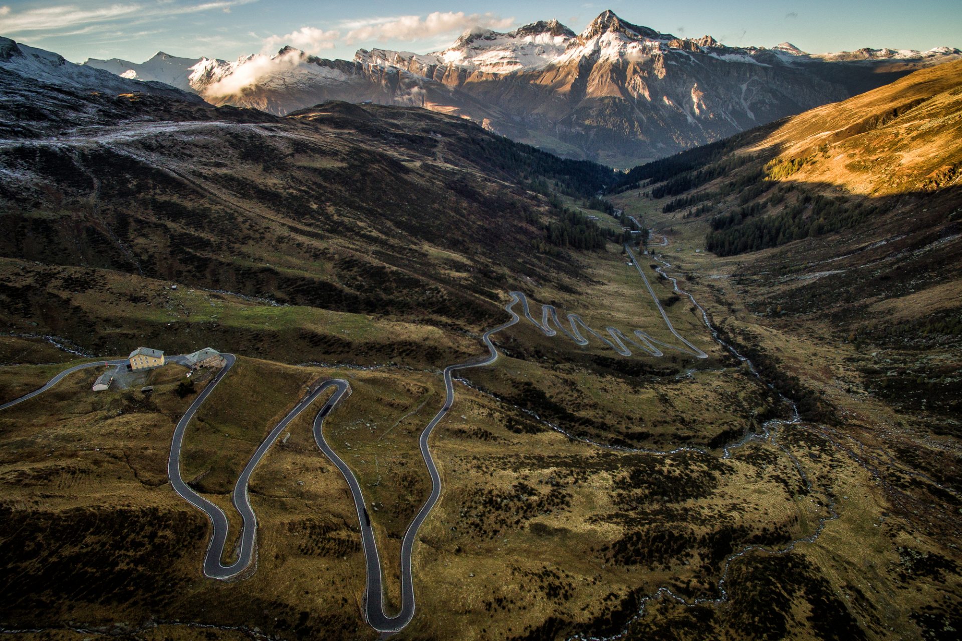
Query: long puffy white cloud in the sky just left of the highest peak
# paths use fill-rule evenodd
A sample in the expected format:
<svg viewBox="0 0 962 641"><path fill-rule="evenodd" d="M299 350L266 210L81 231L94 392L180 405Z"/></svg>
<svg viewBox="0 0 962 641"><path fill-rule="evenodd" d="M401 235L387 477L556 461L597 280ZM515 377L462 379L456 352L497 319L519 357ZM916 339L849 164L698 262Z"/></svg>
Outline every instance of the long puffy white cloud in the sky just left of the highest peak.
<svg viewBox="0 0 962 641"><path fill-rule="evenodd" d="M359 40L418 40L425 37L461 32L474 27L506 29L514 24L514 18L501 18L494 13L433 12L424 18L419 15L401 15L390 18L370 18L347 22L350 29L345 40L353 44Z"/></svg>

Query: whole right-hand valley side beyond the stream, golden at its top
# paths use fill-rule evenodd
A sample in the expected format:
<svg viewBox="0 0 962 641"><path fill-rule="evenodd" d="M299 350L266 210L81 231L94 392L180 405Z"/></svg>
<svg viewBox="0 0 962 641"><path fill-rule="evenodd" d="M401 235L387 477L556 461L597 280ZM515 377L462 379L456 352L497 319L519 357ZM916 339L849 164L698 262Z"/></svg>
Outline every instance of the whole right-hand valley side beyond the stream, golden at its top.
<svg viewBox="0 0 962 641"><path fill-rule="evenodd" d="M716 636L736 622L752 638L954 634L960 112L962 64L951 63L625 177L616 205L669 239L652 251L797 401L827 439L816 449L841 456L832 474L852 475L816 545L733 568L726 607L651 604L632 627L639 638ZM800 616L797 600L824 589L845 595L845 609ZM757 600L765 612L742 609Z"/></svg>

